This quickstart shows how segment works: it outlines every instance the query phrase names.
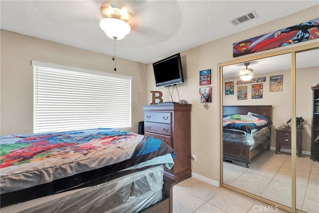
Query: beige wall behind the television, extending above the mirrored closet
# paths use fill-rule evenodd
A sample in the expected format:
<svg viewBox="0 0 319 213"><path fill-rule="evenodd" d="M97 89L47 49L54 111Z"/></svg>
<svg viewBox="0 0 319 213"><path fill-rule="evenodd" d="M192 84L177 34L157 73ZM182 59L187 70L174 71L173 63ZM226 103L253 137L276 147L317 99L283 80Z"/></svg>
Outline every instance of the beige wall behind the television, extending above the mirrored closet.
<svg viewBox="0 0 319 213"><path fill-rule="evenodd" d="M263 25L253 27L234 35L224 37L222 39L212 41L201 46L181 52L183 72L185 83L178 85L180 99L187 100L192 104L191 112L191 152L196 155L196 162L192 165L192 172L204 176L210 180L219 180L219 125L218 125L218 107L219 107L219 83L218 83L218 64L226 61L234 60L232 53L232 44L247 38L262 35L283 27L288 27L311 20L319 16L319 7L311 7L307 10L300 11L293 15L286 16L276 21L271 21ZM233 26L229 26L231 30ZM218 30L218 29L216 29ZM318 42L308 41L309 42ZM294 44L303 45L300 44ZM282 49L285 47L282 47ZM289 48L289 47L288 47ZM276 50L276 49L275 49ZM267 50L261 53L272 52ZM168 55L167 55L168 56ZM241 56L238 58L245 58ZM198 90L199 86L199 71L211 69L212 83L212 103L209 103L208 110L199 102ZM167 88L155 86L152 64L147 66L148 72L148 103L152 102L150 91L159 90L163 92L164 101L170 101ZM174 93L174 101L177 101L177 95ZM286 116L285 116L286 120Z"/></svg>

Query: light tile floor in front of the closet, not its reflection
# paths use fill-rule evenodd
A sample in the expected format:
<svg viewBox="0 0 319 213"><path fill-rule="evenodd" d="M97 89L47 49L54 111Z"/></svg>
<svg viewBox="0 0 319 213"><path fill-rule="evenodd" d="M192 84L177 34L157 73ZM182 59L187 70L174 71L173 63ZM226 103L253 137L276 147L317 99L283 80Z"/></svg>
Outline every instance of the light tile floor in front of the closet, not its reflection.
<svg viewBox="0 0 319 213"><path fill-rule="evenodd" d="M195 178L173 187L173 213L283 213L234 193L214 187Z"/></svg>

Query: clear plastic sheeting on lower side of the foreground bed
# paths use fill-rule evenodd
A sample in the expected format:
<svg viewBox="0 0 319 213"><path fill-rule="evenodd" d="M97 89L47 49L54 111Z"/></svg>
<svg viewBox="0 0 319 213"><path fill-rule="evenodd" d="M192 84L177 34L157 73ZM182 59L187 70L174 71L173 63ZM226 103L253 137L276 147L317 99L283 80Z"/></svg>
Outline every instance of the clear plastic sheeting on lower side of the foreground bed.
<svg viewBox="0 0 319 213"><path fill-rule="evenodd" d="M162 177L160 165L97 186L1 208L1 213L140 212L162 199Z"/></svg>

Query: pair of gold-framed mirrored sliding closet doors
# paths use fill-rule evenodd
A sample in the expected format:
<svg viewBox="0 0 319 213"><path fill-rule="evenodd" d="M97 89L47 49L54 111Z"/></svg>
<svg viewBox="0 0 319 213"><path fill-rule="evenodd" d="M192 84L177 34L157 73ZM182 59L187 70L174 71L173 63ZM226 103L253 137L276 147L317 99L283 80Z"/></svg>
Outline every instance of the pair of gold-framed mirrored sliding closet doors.
<svg viewBox="0 0 319 213"><path fill-rule="evenodd" d="M311 88L319 82L314 48L318 44L221 64L223 187L289 212L319 208L319 162L310 159L319 137L319 88L318 97ZM245 69L251 80L240 78ZM252 121L254 127L245 126Z"/></svg>

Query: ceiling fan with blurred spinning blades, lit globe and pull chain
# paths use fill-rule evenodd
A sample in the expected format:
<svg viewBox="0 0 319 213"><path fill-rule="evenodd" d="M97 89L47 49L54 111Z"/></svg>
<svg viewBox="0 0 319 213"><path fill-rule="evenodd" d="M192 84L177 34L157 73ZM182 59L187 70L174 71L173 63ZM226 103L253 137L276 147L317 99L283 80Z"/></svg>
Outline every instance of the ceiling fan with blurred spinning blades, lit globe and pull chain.
<svg viewBox="0 0 319 213"><path fill-rule="evenodd" d="M103 25L103 22L110 22L113 19L120 23L116 24L116 26L123 25L126 28L124 35L116 36L113 33L109 33L107 28L101 26L101 31L107 35L105 36L105 42L108 42L108 44L111 41L113 42L112 59L114 58L113 61L115 63L117 45L120 45L122 49L123 45L125 45L126 51L131 52L135 51L132 49L133 46L139 45L144 48L149 46L150 41L155 41L154 46L160 45L159 41L162 43L167 42L179 31L181 24L176 25L176 22L181 23L182 21L182 16L177 15L180 13L178 1L171 1L168 8L161 6L164 1L106 0L96 2L99 2L100 7L100 14L97 18L100 21L100 26ZM174 16L175 21L172 22L170 21L171 17L162 15L166 13L176 14ZM163 27L165 30L161 30ZM116 64L114 71L116 71Z"/></svg>

